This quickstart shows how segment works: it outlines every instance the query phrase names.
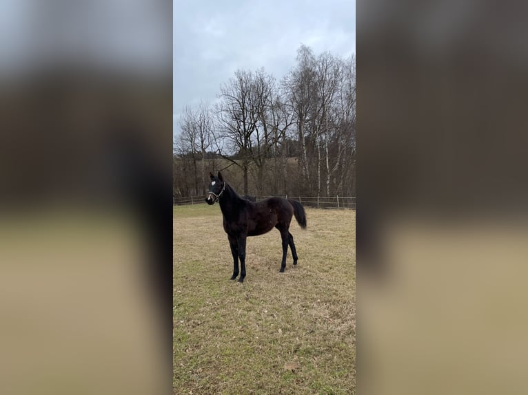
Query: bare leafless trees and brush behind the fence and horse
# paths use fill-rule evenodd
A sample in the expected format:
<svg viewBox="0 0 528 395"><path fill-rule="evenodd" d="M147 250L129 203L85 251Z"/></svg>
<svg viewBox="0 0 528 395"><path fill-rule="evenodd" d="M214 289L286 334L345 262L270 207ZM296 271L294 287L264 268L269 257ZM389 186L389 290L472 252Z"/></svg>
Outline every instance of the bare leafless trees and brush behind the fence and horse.
<svg viewBox="0 0 528 395"><path fill-rule="evenodd" d="M240 193L356 195L356 63L301 45L280 81L237 70L214 105L185 107L174 141L175 197L202 195L227 166Z"/></svg>

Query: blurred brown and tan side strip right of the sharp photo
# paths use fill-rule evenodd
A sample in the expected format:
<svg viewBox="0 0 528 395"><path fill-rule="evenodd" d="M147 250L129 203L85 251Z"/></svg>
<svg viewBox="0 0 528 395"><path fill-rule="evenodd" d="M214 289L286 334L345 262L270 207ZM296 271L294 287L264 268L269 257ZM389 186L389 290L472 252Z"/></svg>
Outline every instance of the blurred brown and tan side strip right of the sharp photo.
<svg viewBox="0 0 528 395"><path fill-rule="evenodd" d="M526 11L358 1L358 393L526 392Z"/></svg>

